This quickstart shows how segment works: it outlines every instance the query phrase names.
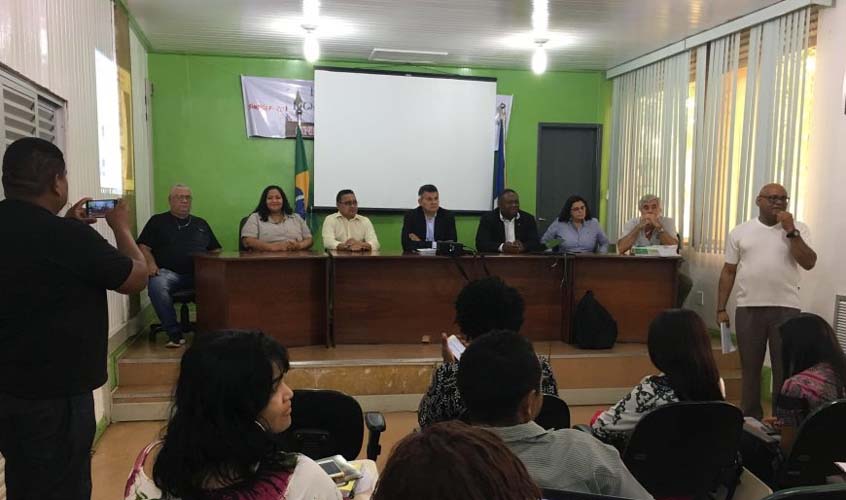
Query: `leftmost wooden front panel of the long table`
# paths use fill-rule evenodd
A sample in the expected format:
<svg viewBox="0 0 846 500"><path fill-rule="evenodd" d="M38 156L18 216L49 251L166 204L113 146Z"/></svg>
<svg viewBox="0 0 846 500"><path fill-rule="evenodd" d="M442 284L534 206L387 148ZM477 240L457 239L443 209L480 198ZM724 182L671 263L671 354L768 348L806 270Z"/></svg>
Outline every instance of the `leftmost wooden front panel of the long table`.
<svg viewBox="0 0 846 500"><path fill-rule="evenodd" d="M250 255L195 262L201 332L260 329L286 347L325 344L325 257Z"/></svg>

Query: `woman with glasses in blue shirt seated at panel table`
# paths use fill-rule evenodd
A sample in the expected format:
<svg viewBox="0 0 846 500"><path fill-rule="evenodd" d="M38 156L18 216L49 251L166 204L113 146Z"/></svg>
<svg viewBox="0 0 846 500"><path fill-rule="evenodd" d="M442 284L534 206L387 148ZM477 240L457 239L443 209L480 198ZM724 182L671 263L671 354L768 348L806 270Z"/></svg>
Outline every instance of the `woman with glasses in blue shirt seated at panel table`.
<svg viewBox="0 0 846 500"><path fill-rule="evenodd" d="M561 253L607 253L608 237L592 218L587 201L579 195L567 198L558 220L544 233L541 243L558 241Z"/></svg>

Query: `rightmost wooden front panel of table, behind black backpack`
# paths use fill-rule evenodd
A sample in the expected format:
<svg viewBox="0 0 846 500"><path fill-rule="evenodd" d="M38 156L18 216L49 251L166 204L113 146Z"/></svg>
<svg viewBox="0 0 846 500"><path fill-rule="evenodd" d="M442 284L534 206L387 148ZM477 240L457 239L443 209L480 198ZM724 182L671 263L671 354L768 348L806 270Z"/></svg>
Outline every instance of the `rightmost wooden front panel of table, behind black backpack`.
<svg viewBox="0 0 846 500"><path fill-rule="evenodd" d="M573 259L573 304L588 290L617 321L617 341L647 340L649 323L674 307L678 258L588 255Z"/></svg>

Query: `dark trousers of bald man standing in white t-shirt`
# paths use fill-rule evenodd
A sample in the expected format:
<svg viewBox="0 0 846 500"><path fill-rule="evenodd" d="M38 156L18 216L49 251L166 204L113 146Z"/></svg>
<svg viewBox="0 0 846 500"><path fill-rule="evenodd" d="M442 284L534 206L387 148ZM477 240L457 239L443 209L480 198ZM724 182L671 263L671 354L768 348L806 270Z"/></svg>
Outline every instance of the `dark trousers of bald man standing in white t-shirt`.
<svg viewBox="0 0 846 500"><path fill-rule="evenodd" d="M738 307L734 318L737 332L737 347L740 351L740 366L743 371L743 389L740 409L743 414L760 420L764 416L761 408L761 368L767 344L770 346L770 364L773 369L773 398L781 391L784 382L781 361L781 335L778 325L799 314L792 307Z"/></svg>

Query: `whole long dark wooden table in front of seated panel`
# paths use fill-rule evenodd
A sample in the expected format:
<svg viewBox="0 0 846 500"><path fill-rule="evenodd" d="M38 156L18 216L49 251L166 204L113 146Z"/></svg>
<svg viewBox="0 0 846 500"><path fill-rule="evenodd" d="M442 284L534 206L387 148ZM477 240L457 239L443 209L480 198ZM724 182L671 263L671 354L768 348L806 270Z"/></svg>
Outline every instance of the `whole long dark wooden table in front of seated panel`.
<svg viewBox="0 0 846 500"><path fill-rule="evenodd" d="M645 342L673 306L679 258L399 252L224 253L195 259L200 331L260 328L285 345L437 342L456 332L455 298L470 279L500 276L526 304L532 340L570 339L587 290L617 320L618 340Z"/></svg>

